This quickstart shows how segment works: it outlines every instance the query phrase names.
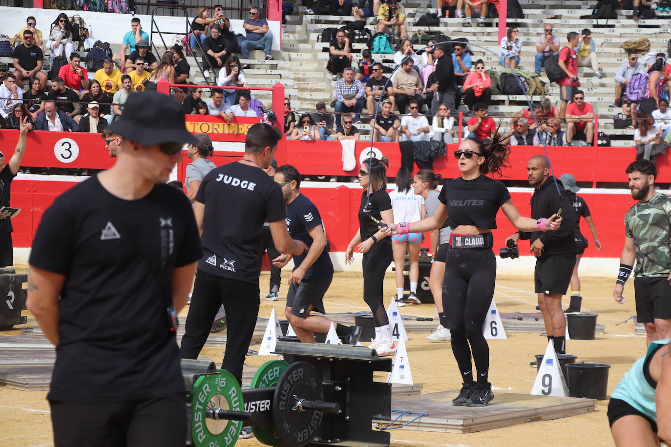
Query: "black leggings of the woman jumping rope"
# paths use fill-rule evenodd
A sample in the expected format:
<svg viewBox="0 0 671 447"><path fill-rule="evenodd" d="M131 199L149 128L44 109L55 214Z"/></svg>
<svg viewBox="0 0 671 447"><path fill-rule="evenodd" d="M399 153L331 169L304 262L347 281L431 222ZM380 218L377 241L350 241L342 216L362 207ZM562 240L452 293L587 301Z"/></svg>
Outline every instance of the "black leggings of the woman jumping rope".
<svg viewBox="0 0 671 447"><path fill-rule="evenodd" d="M443 311L450 324L452 353L464 382L472 383L472 351L478 382L486 383L489 345L484 339L482 326L494 297L497 260L490 249L448 247L443 281Z"/></svg>

